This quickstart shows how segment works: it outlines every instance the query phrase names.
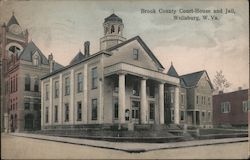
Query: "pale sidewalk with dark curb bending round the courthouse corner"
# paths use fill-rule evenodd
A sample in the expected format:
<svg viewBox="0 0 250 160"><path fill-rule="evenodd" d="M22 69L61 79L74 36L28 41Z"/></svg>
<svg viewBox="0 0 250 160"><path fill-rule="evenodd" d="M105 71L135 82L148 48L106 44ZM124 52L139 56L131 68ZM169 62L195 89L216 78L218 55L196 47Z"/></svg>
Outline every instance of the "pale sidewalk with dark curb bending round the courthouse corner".
<svg viewBox="0 0 250 160"><path fill-rule="evenodd" d="M211 140L195 140L186 142L175 142L175 143L133 143L133 142L107 142L101 140L88 140L88 139L77 139L68 137L55 137L46 136L39 134L27 134L27 133L11 133L13 136L63 142L69 144L86 145L91 147L115 149L130 153L147 152L159 149L171 149L171 148L182 148L182 147L193 147L193 146L204 146L213 144L224 144L224 143L236 143L236 142L247 142L248 137L244 138L225 138L225 139L211 139Z"/></svg>

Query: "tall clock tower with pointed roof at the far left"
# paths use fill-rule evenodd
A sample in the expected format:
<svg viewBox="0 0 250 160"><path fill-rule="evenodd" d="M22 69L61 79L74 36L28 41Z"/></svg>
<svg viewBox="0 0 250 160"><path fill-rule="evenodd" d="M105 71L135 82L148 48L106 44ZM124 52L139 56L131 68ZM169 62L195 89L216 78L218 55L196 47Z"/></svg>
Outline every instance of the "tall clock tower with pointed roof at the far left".
<svg viewBox="0 0 250 160"><path fill-rule="evenodd" d="M5 98L5 91L8 90L8 69L12 60L17 60L23 49L28 44L28 31L23 30L19 25L14 12L8 21L7 25L4 23L0 30L0 107L1 107L1 131L6 129L8 124L8 117L4 113L8 113L8 101Z"/></svg>

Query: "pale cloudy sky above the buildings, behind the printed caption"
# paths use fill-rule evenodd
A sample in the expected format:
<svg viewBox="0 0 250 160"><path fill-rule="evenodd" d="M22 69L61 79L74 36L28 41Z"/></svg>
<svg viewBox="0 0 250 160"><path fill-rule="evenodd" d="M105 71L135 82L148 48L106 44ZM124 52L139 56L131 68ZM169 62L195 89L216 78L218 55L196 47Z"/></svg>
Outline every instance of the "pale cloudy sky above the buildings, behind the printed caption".
<svg viewBox="0 0 250 160"><path fill-rule="evenodd" d="M174 20L159 9L234 9L235 14L216 14L218 20ZM143 14L155 9L157 14ZM30 0L0 1L0 24L14 12L23 29L48 56L62 65L84 50L90 41L91 54L99 51L104 18L113 12L122 18L123 36L139 35L165 67L173 63L179 75L206 70L211 80L222 70L231 87L249 87L249 8L247 0L159 0L87 1ZM180 14L201 16L203 14ZM214 15L214 14L208 14Z"/></svg>

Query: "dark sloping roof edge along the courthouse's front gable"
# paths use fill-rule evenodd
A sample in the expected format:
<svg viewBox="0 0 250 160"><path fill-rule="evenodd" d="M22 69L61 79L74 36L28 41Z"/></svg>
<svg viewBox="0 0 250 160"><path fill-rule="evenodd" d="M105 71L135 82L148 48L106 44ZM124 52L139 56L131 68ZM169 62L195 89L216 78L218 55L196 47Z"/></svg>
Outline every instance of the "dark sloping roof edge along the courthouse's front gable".
<svg viewBox="0 0 250 160"><path fill-rule="evenodd" d="M126 40L126 41L124 41L124 42L122 42L122 43L119 43L119 44L117 44L117 45L115 45L115 46L113 46L113 47L110 47L110 48L107 49L107 51L109 51L109 52L110 52L110 51L113 51L113 50L115 50L115 49L117 49L117 48L120 48L121 46L124 46L125 44L130 43L130 42L132 42L132 41L134 41L134 40L137 40L137 41L140 43L140 45L142 46L142 48L146 51L146 53L148 53L149 57L158 65L159 68L164 69L163 65L162 65L162 64L159 62L159 60L155 57L155 55L154 55L153 52L148 48L148 46L145 44L145 42L143 42L143 40L141 39L140 36L135 36L135 37L133 37L133 38L131 38L131 39L128 39L128 40Z"/></svg>

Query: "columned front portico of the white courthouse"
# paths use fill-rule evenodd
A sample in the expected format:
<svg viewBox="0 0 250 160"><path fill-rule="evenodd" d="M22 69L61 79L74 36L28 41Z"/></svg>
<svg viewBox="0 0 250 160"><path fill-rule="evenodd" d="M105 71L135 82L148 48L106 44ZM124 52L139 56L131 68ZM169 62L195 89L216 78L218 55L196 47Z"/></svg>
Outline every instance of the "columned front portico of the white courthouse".
<svg viewBox="0 0 250 160"><path fill-rule="evenodd" d="M104 77L105 81L118 81L111 86L119 108L115 123L164 124L164 84L178 86L178 78L126 63L105 67Z"/></svg>

